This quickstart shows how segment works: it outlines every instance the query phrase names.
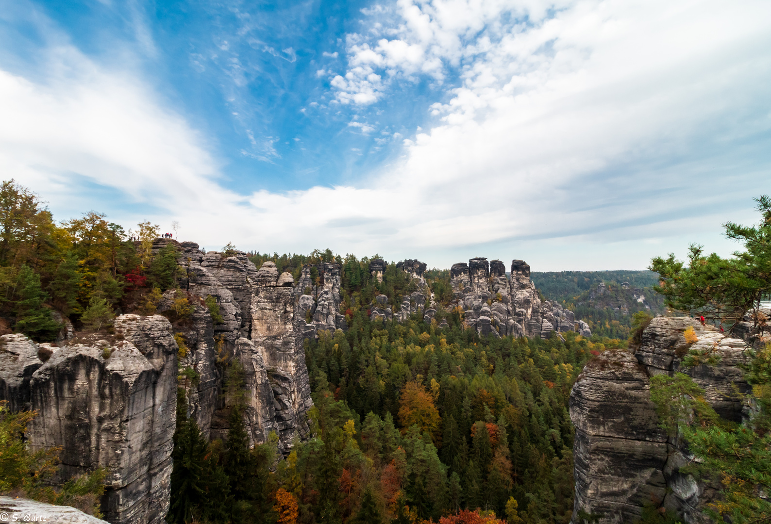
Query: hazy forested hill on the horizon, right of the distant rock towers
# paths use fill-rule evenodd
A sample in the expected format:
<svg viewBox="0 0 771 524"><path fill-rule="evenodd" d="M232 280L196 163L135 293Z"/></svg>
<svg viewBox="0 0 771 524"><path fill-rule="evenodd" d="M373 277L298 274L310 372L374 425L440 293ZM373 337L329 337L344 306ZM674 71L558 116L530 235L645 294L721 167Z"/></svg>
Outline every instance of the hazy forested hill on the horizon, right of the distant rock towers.
<svg viewBox="0 0 771 524"><path fill-rule="evenodd" d="M666 311L664 297L653 291L653 271L549 271L530 278L544 297L564 304L604 337L628 338L637 311Z"/></svg>

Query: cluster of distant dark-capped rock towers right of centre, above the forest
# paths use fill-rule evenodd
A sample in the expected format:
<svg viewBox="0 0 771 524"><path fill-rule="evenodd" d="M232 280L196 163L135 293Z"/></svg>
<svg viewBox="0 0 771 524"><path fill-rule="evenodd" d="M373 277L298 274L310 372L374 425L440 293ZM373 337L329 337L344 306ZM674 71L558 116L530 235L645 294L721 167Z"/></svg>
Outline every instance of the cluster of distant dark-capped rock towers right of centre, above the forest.
<svg viewBox="0 0 771 524"><path fill-rule="evenodd" d="M450 284L463 320L479 334L546 338L551 331L577 331L591 336L589 327L575 321L572 311L561 304L541 301L530 280L530 266L512 260L510 277L500 260L479 257L453 264Z"/></svg>

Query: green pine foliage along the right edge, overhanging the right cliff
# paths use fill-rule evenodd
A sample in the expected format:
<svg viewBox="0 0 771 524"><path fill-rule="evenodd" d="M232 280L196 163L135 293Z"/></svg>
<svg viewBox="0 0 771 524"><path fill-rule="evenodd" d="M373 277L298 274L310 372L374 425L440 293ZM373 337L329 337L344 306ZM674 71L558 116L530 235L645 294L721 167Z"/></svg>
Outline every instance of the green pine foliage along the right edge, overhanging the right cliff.
<svg viewBox="0 0 771 524"><path fill-rule="evenodd" d="M726 223L726 236L742 240L746 250L733 258L715 254L705 257L702 247L692 246L689 264L656 258L651 269L662 275L660 289L668 304L720 321L736 322L749 314L750 333L747 381L749 418L738 427L722 421L703 398L704 391L685 374L651 378L651 400L658 408L662 426L681 435L696 459L685 472L696 472L722 485L721 499L705 512L715 522L768 522L771 502L757 496L771 492L771 347L760 341L769 327L760 301L771 291L771 199L756 199L761 213L757 227ZM700 354L690 354L684 365L700 364ZM706 359L706 363L715 359Z"/></svg>

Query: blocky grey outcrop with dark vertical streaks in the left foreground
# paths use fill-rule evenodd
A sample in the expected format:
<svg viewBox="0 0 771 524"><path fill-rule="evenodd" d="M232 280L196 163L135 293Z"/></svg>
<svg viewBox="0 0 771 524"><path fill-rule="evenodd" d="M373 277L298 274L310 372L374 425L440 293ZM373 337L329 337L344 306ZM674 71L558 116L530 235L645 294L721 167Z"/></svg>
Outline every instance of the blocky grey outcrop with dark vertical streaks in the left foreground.
<svg viewBox="0 0 771 524"><path fill-rule="evenodd" d="M0 393L13 409L38 412L26 436L33 450L61 447L61 479L108 470L106 519L160 524L169 507L177 342L160 315L122 315L114 328L62 348L3 336Z"/></svg>

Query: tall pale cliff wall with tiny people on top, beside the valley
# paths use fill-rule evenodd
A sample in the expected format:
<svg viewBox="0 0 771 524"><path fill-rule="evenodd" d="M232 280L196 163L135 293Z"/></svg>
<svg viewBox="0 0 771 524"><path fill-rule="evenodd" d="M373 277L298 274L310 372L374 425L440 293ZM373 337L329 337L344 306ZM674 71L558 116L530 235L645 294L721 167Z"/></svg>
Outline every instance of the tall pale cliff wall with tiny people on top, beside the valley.
<svg viewBox="0 0 771 524"><path fill-rule="evenodd" d="M224 377L216 361L236 358L244 368L244 422L251 442L261 444L275 431L280 448L288 450L295 435L306 438L309 432L305 414L312 401L302 341L345 322L338 311L339 267L324 264L318 281L305 267L295 286L291 274L278 274L273 262L258 270L241 252L204 254L193 242L179 247L178 263L185 268L180 287L202 300L214 297L223 319L213 324L207 308L197 304L190 327L181 331L190 354L180 365L200 375L188 395L190 415L208 437L227 435L230 411L221 395Z"/></svg>

